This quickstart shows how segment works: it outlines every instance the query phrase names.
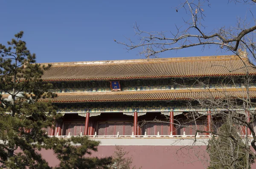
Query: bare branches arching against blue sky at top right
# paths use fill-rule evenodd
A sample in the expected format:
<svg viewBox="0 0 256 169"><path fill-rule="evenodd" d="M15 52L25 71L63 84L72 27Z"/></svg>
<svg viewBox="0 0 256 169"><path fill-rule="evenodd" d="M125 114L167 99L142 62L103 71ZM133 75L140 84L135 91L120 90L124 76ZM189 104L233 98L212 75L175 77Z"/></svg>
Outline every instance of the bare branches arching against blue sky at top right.
<svg viewBox="0 0 256 169"><path fill-rule="evenodd" d="M207 17L204 11L210 5L210 0L185 0L177 6L177 12L185 10L188 17L184 20L183 26L175 25L176 32L161 31L147 32L140 29L137 23L134 25L135 37L137 39L127 38L126 42L116 41L119 44L125 45L126 49L142 49L140 55L145 57L158 57L160 53L190 48L193 46L218 46L223 51L231 51L237 54L237 51L243 50L249 54L251 61L256 59L256 20L253 16L253 11L250 11L253 20L242 20L238 18L236 27L222 26L219 29L211 29L204 25L204 20ZM254 6L255 0L228 0L228 3L244 3L245 5ZM220 4L221 5L221 4ZM206 7L206 9L204 9ZM246 11L245 11L246 12Z"/></svg>

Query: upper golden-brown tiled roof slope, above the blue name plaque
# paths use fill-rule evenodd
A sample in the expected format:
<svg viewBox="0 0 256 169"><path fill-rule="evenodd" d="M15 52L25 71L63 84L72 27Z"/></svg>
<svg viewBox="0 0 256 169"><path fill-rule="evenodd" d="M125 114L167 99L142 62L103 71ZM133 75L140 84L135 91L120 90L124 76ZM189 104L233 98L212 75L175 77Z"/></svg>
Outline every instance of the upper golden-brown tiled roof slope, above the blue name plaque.
<svg viewBox="0 0 256 169"><path fill-rule="evenodd" d="M42 63L45 64L45 63ZM247 57L234 55L51 63L44 81L125 80L256 74Z"/></svg>

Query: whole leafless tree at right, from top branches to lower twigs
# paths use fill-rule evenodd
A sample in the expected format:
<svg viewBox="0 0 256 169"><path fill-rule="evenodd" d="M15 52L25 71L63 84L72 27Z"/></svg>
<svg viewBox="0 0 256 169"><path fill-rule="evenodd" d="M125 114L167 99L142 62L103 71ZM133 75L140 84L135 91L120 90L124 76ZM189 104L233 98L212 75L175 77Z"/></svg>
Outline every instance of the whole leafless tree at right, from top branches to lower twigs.
<svg viewBox="0 0 256 169"><path fill-rule="evenodd" d="M211 0L184 0L177 8L177 12L185 11L189 15L187 20L184 20L183 26L176 26L176 32L147 32L141 30L137 23L134 25L135 37L133 40L127 38L126 42L116 41L116 43L126 46L126 49L134 50L141 49L139 54L144 55L146 58L158 57L159 54L171 50L179 50L184 48L192 48L194 46L212 47L217 46L222 52L233 52L238 57L248 57L250 62L256 61L256 20L253 16L253 10L249 10L252 20L237 19L235 27L222 26L219 29L211 29L204 25L204 20L207 17L204 11L207 10ZM239 5L251 6L252 9L256 5L256 0L228 0L228 3L238 3ZM253 64L250 66L255 67ZM248 64L244 63L245 71L241 80L244 82L244 95L238 96L236 92L230 94L225 90L225 86L218 86L215 91L212 92L209 83L201 82L204 86L204 96L200 98L191 98L188 102L188 106L193 109L207 108L212 110L211 118L212 123L210 130L195 128L196 135L201 133L209 133L210 135L216 135L219 137L225 137L230 139L239 149L243 149L247 153L246 169L250 169L250 157L256 158L256 130L253 129L253 123L256 124L256 111L251 109L256 106L255 99L251 96L250 83L254 77L249 75ZM230 82L234 80L233 77L228 77ZM194 79L195 81L197 79ZM182 85L182 84L177 84ZM240 88L241 86L236 86ZM216 94L217 93L217 94ZM197 104L195 104L197 103ZM204 119L205 115L198 112L191 112L186 115L188 121L198 123L198 120ZM232 124L236 132L242 137L237 137L230 133L221 133L218 131L217 122L222 121ZM179 120L175 121L178 127L191 127L186 123L180 123ZM196 140L196 137L195 137ZM253 148L253 150L251 149ZM230 149L232 145L230 144ZM237 150L237 149L236 149ZM221 157L221 149L219 151L219 157ZM236 163L236 155L233 151L233 163ZM220 158L224 160L223 158ZM232 163L232 164L233 164ZM230 168L232 165L230 165Z"/></svg>

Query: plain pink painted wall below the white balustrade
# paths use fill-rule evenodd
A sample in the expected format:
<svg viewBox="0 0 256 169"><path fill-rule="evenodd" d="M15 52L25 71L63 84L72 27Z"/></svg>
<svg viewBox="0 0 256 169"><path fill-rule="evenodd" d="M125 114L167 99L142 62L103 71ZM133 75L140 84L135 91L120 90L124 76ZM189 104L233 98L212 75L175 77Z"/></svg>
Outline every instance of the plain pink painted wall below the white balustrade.
<svg viewBox="0 0 256 169"><path fill-rule="evenodd" d="M195 153L200 158L205 158L202 149L204 147L193 147L193 149L181 149L183 146L120 146L129 152L129 156L133 159L133 164L143 169L202 169L207 163L198 160ZM179 150L181 149L181 150ZM98 152L93 152L92 156L99 158L111 156L116 151L115 146L99 146ZM52 150L42 150L41 154L48 161L50 166L57 166L59 161L53 154ZM203 158L203 159L204 159Z"/></svg>

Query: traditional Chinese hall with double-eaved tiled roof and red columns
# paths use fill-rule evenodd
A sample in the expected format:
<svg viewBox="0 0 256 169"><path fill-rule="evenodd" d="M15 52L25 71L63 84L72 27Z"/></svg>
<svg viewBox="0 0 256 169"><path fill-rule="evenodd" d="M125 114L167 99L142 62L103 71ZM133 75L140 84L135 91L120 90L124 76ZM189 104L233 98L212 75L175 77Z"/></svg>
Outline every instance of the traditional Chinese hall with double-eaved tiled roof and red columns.
<svg viewBox="0 0 256 169"><path fill-rule="evenodd" d="M218 128L218 123L211 118L213 110L199 107L197 99L224 95L246 97L244 76L246 72L250 76L256 75L256 69L247 57L241 59L236 56L51 65L42 79L53 84L52 92L58 97L52 99L52 103L64 116L56 123L55 129L48 129L48 135L89 135L102 142L99 153L105 149L107 154L104 155L109 151L113 153L114 145L121 145L127 146L126 150L134 153L135 157L143 151L144 154L149 153L150 158L167 160L166 163L169 163L168 157L172 153L167 158L162 157L164 148L172 149L171 145L177 145L173 148L177 149L192 144L189 140L175 144L177 137L192 137L195 129L209 131ZM256 82L253 78L249 91L250 97L255 98ZM187 117L192 112L202 115L197 123ZM215 120L218 121L217 118ZM191 127L183 127L182 124ZM200 133L200 137L208 135ZM140 163L148 160L141 158L137 159ZM155 168L154 164L150 165ZM164 163L162 165L166 167Z"/></svg>

